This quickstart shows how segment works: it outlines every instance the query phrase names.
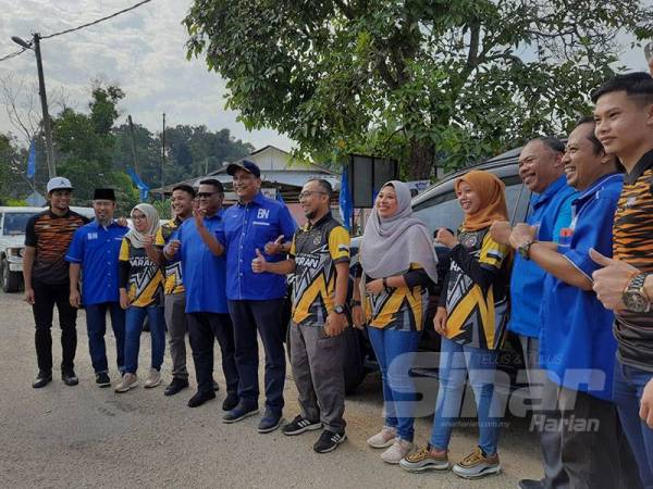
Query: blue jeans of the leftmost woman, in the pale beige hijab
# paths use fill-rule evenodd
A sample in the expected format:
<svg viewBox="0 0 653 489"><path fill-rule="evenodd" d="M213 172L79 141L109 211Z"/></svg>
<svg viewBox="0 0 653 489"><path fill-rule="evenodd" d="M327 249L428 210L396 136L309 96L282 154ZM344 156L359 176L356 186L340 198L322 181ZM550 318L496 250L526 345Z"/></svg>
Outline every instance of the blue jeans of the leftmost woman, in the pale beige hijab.
<svg viewBox="0 0 653 489"><path fill-rule="evenodd" d="M138 369L138 350L140 349L140 334L145 316L149 319L149 329L152 338L151 367L161 371L163 352L165 351L165 319L162 305L148 305L139 308L131 305L125 311L125 372L135 374Z"/></svg>

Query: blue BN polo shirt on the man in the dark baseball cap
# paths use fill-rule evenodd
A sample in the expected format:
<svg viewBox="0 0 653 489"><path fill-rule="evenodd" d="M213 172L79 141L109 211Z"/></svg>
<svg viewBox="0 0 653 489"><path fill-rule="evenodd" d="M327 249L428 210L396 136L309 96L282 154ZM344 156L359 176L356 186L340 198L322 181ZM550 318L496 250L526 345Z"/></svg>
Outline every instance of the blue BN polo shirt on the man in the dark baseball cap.
<svg viewBox="0 0 653 489"><path fill-rule="evenodd" d="M226 247L226 297L229 300L281 299L286 293L283 275L255 274L251 261L256 249L269 262L285 260L283 254L267 254L266 243L283 235L291 240L295 234L295 220L288 208L276 200L258 193L248 204L237 203L224 213L224 233L220 237Z"/></svg>

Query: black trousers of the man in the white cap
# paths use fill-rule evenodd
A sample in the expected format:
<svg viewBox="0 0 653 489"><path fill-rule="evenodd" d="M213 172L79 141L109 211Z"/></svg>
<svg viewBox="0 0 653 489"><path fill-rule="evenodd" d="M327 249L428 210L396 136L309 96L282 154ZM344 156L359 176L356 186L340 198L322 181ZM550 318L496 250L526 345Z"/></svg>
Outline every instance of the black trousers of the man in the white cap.
<svg viewBox="0 0 653 489"><path fill-rule="evenodd" d="M54 314L54 304L59 311L59 326L61 327L61 349L62 361L61 369L67 371L74 368L75 351L77 349L77 330L75 323L77 321L77 310L69 301L69 284L48 285L34 280L34 322L36 331L34 340L36 343L36 360L38 369L44 372L52 371L52 317Z"/></svg>

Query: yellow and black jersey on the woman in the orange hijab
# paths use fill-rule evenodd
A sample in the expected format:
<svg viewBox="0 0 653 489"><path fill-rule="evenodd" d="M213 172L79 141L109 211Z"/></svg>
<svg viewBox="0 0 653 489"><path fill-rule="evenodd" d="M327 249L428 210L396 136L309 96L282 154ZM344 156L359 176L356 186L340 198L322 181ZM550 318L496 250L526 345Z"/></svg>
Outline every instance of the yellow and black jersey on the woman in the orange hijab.
<svg viewBox="0 0 653 489"><path fill-rule="evenodd" d="M502 348L512 250L494 241L488 228L461 229L458 241L440 297L448 313L446 337L473 348Z"/></svg>

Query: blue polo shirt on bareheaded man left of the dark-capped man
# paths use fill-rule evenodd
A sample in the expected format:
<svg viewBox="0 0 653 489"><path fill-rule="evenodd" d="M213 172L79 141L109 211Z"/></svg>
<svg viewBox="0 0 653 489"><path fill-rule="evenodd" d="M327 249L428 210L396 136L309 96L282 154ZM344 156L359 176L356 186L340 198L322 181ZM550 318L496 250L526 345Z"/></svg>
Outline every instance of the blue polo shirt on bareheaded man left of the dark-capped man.
<svg viewBox="0 0 653 489"><path fill-rule="evenodd" d="M213 235L223 230L224 211L220 210L211 217L205 217L205 226ZM226 280L226 260L215 256L202 241L195 220L184 221L171 239L182 242L180 255L182 276L186 288L186 312L229 313L224 283Z"/></svg>

